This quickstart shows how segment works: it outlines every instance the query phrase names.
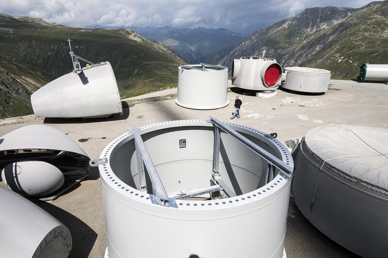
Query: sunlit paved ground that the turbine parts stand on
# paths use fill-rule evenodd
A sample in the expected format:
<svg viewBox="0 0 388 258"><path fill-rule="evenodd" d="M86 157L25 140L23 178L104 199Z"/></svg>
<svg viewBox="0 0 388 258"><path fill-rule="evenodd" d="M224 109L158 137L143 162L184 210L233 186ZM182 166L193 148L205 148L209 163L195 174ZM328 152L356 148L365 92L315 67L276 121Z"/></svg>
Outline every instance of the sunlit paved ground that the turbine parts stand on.
<svg viewBox="0 0 388 258"><path fill-rule="evenodd" d="M304 136L309 129L328 123L361 124L387 128L388 86L380 83L357 83L333 80L331 90L324 95L300 95L278 91L269 99L229 92L242 99L242 118L234 122L278 133L284 140ZM123 117L99 120L34 119L31 116L0 121L0 135L27 124L45 123L58 128L76 141L91 157L97 158L102 149L114 138L130 130L131 125L143 126L161 121L208 119L215 116L229 121L233 105L216 110L186 109L174 99L142 103L126 108ZM105 138L106 137L106 138ZM79 142L80 139L87 141ZM106 247L100 180L95 168L92 177L53 202L39 203L41 207L62 221L73 237L73 258L101 258ZM356 257L325 237L298 211L290 201L286 233L286 251L289 258Z"/></svg>

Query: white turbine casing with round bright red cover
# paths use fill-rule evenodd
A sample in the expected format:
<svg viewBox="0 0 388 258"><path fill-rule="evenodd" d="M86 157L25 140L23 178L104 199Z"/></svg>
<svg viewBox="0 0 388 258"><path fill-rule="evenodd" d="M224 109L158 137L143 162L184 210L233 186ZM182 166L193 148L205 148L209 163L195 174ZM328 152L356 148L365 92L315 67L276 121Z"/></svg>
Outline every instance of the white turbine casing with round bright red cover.
<svg viewBox="0 0 388 258"><path fill-rule="evenodd" d="M282 79L280 64L271 58L242 57L239 61L233 60L233 67L232 85L245 90L275 90Z"/></svg>

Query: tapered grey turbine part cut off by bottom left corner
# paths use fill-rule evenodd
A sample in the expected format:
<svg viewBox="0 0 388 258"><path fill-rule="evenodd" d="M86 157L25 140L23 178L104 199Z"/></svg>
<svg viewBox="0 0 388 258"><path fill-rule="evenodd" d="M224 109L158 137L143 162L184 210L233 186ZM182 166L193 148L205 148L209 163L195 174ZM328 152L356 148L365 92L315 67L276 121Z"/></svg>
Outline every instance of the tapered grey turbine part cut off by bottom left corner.
<svg viewBox="0 0 388 258"><path fill-rule="evenodd" d="M0 256L66 258L69 230L32 202L0 186Z"/></svg>

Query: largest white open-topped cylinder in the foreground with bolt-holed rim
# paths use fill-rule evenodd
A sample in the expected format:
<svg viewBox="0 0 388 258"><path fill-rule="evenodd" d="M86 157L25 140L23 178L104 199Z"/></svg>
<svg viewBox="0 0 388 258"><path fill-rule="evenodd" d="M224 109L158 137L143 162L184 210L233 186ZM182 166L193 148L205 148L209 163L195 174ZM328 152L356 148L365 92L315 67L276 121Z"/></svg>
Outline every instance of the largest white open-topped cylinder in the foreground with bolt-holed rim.
<svg viewBox="0 0 388 258"><path fill-rule="evenodd" d="M127 133L106 146L98 167L109 258L285 257L291 180L269 167L284 164L292 171L291 154L275 138L258 130L223 124L279 162L269 164L253 149L204 120L144 126L136 144L134 135ZM218 134L219 140L215 140ZM219 146L220 155L213 156L214 146ZM149 154L152 164L147 162L147 166L155 166L162 187L158 184L153 190L147 176L150 172L145 173L142 164L138 166L141 149ZM156 182L154 172L152 177ZM220 187L223 191L213 192ZM175 198L176 207L158 204L154 194L163 191Z"/></svg>

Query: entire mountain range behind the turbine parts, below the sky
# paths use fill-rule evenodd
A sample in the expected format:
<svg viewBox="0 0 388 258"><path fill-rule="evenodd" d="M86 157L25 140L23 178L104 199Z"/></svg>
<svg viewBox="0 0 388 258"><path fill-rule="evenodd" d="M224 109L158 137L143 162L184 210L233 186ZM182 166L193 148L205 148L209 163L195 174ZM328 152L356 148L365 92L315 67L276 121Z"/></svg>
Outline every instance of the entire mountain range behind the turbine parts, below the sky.
<svg viewBox="0 0 388 258"><path fill-rule="evenodd" d="M67 38L75 54L111 62L122 98L176 86L184 59L230 68L243 56L268 57L345 79L356 78L364 62L388 63L388 0L308 8L247 38L224 29L108 29L0 14L0 117L31 114L30 95L72 70Z"/></svg>

